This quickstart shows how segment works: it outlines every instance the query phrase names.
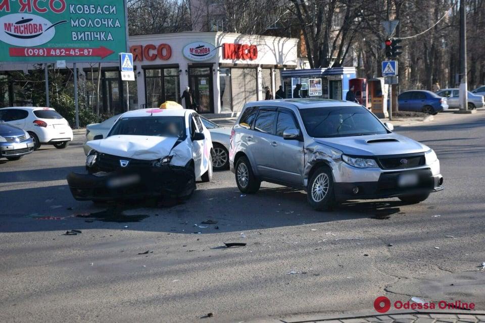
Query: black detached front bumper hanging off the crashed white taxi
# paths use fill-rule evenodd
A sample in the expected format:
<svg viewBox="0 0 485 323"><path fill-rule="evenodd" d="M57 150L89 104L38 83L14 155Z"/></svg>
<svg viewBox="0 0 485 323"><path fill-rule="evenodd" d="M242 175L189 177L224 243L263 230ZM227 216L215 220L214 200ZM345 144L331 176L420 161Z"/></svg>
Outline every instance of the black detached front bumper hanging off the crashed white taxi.
<svg viewBox="0 0 485 323"><path fill-rule="evenodd" d="M193 169L171 165L112 173L70 173L67 182L72 196L79 201L108 201L160 195L183 198L196 189Z"/></svg>

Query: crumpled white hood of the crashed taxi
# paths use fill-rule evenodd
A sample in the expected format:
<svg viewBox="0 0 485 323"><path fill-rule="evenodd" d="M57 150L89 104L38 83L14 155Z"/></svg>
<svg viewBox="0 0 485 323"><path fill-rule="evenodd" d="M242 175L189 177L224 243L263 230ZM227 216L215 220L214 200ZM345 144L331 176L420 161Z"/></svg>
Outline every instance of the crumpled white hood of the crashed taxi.
<svg viewBox="0 0 485 323"><path fill-rule="evenodd" d="M110 155L153 160L167 156L177 139L173 137L116 135L106 139L91 140L86 144L98 152Z"/></svg>

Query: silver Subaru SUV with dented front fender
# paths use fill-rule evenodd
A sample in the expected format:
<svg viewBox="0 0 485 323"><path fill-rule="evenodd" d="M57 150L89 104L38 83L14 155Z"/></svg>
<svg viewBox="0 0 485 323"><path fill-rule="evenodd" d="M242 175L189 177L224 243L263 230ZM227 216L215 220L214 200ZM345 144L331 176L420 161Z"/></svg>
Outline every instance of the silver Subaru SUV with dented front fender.
<svg viewBox="0 0 485 323"><path fill-rule="evenodd" d="M434 151L393 129L348 101L250 102L232 129L230 168L243 193L261 181L302 188L319 210L349 199L418 203L442 190Z"/></svg>

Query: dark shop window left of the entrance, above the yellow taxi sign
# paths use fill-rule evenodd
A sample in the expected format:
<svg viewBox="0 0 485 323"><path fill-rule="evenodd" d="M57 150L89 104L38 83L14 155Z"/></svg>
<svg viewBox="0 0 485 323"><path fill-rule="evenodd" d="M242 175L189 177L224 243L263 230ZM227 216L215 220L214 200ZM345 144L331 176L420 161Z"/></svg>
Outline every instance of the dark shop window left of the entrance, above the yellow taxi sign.
<svg viewBox="0 0 485 323"><path fill-rule="evenodd" d="M147 107L158 107L165 101L180 103L178 68L146 69L144 72Z"/></svg>

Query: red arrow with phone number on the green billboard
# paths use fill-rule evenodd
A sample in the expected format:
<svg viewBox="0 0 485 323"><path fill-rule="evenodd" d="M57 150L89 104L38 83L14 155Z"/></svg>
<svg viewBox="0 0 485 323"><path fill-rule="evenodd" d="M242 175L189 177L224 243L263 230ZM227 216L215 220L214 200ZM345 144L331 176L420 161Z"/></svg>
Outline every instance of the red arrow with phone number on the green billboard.
<svg viewBox="0 0 485 323"><path fill-rule="evenodd" d="M100 46L90 47L11 47L11 57L101 57L104 59L114 53L113 50Z"/></svg>

